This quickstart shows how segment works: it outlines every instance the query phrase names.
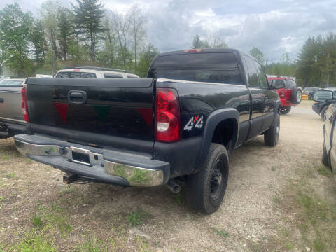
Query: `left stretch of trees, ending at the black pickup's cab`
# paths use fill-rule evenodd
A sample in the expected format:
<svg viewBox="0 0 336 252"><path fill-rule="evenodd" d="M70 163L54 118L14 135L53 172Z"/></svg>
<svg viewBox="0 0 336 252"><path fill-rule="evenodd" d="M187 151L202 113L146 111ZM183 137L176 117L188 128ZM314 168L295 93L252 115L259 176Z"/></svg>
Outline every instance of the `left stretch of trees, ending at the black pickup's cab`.
<svg viewBox="0 0 336 252"><path fill-rule="evenodd" d="M4 65L18 77L90 65L146 76L157 54L146 40L146 17L137 5L125 14L106 10L98 0L76 0L71 8L48 0L37 17L18 3L0 10L0 73Z"/></svg>

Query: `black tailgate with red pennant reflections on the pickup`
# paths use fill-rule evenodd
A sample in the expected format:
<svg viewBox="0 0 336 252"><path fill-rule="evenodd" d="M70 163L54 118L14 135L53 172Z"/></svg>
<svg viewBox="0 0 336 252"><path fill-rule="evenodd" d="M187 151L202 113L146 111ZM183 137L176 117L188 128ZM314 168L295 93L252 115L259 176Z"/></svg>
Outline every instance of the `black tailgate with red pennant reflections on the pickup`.
<svg viewBox="0 0 336 252"><path fill-rule="evenodd" d="M153 149L153 79L28 78L29 130L78 144ZM132 139L132 141L131 141Z"/></svg>

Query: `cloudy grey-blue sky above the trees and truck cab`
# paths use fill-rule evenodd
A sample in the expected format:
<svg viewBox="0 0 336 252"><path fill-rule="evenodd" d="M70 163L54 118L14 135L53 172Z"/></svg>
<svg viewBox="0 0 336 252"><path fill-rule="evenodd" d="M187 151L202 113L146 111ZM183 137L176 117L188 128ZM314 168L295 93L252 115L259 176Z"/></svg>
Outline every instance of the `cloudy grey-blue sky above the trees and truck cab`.
<svg viewBox="0 0 336 252"><path fill-rule="evenodd" d="M42 0L18 0L38 14ZM68 0L60 0L70 6ZM246 3L248 2L248 3ZM10 0L1 0L0 8ZM125 13L132 3L147 17L148 41L161 52L190 48L193 36L220 36L230 48L257 46L269 62L284 52L295 59L309 35L336 32L336 0L102 0L105 8Z"/></svg>

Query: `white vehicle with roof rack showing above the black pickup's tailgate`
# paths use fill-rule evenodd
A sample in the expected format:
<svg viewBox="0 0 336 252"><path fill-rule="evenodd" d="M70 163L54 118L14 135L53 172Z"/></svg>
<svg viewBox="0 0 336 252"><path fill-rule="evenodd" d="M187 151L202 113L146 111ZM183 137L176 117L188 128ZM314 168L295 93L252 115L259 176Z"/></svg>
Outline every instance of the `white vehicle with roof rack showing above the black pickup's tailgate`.
<svg viewBox="0 0 336 252"><path fill-rule="evenodd" d="M140 78L136 74L120 69L94 66L79 66L59 70L56 78Z"/></svg>

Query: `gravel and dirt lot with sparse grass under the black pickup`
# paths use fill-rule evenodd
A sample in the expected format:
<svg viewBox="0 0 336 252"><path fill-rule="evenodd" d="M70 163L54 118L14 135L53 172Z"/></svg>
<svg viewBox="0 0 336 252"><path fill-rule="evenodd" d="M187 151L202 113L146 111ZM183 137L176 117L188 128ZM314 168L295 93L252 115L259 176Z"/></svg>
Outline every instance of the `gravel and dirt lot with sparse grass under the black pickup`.
<svg viewBox="0 0 336 252"><path fill-rule="evenodd" d="M258 137L238 148L211 216L163 186L66 187L62 172L0 140L0 251L336 251L336 183L321 165L322 125L303 101L281 116L278 146Z"/></svg>

